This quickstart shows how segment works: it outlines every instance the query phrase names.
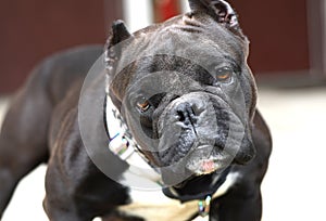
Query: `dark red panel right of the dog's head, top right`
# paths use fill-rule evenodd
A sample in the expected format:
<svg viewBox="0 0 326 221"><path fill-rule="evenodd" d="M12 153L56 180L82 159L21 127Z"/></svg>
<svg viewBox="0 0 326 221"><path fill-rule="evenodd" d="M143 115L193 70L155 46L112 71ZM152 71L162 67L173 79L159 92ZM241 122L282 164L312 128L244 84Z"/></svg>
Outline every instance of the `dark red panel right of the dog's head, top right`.
<svg viewBox="0 0 326 221"><path fill-rule="evenodd" d="M233 0L251 41L253 70L296 72L310 68L306 0Z"/></svg>

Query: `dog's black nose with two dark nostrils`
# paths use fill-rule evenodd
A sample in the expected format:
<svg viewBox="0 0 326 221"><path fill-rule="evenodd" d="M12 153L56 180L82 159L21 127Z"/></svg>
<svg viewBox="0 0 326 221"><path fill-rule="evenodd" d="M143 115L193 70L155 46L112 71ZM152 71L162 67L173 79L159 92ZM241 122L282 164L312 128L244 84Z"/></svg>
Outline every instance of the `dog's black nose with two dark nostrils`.
<svg viewBox="0 0 326 221"><path fill-rule="evenodd" d="M176 107L176 116L179 122L183 122L185 126L195 126L198 121L199 115L202 113L202 109L198 104L192 103L180 103Z"/></svg>

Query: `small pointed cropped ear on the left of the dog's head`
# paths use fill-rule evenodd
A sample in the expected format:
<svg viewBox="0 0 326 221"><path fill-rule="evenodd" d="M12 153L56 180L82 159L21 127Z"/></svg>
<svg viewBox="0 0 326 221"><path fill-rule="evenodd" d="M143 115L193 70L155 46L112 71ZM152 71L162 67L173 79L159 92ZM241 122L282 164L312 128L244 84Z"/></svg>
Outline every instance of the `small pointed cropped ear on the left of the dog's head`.
<svg viewBox="0 0 326 221"><path fill-rule="evenodd" d="M115 61L121 54L121 47L117 44L130 37L133 37L133 35L128 31L123 21L117 20L113 22L112 30L104 49L106 69L113 68Z"/></svg>

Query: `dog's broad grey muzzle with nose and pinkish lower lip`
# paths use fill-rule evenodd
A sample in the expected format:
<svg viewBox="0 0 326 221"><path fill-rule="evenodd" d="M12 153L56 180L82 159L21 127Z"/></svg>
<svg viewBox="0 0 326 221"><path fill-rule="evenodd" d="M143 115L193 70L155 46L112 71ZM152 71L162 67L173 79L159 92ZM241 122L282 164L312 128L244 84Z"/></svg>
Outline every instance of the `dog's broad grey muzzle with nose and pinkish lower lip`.
<svg viewBox="0 0 326 221"><path fill-rule="evenodd" d="M167 105L158 133L162 171L185 180L227 168L241 146L244 127L223 99L192 92ZM163 180L166 176L163 172Z"/></svg>

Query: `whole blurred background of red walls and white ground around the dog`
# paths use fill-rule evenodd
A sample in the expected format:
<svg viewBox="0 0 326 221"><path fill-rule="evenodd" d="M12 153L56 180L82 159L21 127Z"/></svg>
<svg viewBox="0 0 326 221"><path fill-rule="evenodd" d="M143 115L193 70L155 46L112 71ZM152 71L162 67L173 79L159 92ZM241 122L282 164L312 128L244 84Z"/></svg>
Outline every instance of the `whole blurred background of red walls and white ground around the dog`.
<svg viewBox="0 0 326 221"><path fill-rule="evenodd" d="M251 41L259 107L274 138L263 220L326 220L326 1L229 2ZM137 30L188 10L186 0L0 0L0 125L11 94L45 56L103 44L117 18ZM47 220L45 171L21 183L3 221Z"/></svg>

